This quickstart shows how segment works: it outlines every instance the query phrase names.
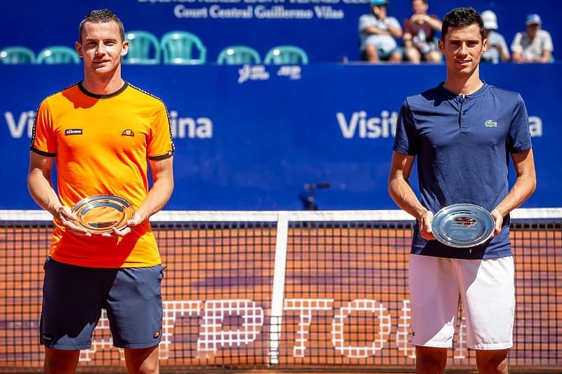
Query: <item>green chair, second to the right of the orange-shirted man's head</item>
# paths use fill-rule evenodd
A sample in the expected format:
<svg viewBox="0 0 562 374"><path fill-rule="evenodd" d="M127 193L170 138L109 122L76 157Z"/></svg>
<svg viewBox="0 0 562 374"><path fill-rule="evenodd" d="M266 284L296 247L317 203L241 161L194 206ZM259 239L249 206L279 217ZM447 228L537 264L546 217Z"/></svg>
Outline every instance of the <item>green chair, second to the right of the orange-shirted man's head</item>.
<svg viewBox="0 0 562 374"><path fill-rule="evenodd" d="M160 39L166 65L200 65L207 62L207 48L195 34L184 31L167 32Z"/></svg>

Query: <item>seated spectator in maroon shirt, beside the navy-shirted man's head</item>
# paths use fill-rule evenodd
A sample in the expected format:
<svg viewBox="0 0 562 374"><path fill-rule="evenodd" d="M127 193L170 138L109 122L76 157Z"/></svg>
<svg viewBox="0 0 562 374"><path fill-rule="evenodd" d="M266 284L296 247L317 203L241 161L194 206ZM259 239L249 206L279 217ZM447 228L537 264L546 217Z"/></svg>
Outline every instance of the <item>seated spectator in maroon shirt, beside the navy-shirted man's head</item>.
<svg viewBox="0 0 562 374"><path fill-rule="evenodd" d="M440 62L441 53L436 43L436 32L441 29L437 15L427 14L427 0L412 0L413 14L404 20L404 53L409 62L419 64L421 60Z"/></svg>

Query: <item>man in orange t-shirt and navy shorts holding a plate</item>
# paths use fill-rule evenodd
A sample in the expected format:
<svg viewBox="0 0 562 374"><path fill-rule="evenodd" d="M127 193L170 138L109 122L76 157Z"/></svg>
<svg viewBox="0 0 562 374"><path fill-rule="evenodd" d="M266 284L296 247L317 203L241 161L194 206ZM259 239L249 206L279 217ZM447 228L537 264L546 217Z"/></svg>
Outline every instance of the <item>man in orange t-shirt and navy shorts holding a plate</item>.
<svg viewBox="0 0 562 374"><path fill-rule="evenodd" d="M107 9L86 15L76 43L84 79L37 110L27 182L55 222L40 323L45 373L74 373L102 309L129 373L159 371L164 274L149 218L174 189L174 145L162 101L122 79L128 48L117 15ZM70 207L96 194L131 203L125 227L92 234L77 225Z"/></svg>

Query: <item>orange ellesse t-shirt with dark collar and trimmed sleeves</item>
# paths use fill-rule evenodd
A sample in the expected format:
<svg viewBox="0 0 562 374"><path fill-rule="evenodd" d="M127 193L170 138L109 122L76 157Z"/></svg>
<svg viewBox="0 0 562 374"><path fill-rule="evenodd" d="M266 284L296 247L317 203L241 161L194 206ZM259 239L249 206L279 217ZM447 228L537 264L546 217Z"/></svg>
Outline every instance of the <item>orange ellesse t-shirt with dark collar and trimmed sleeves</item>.
<svg viewBox="0 0 562 374"><path fill-rule="evenodd" d="M31 149L55 157L56 188L65 206L112 194L136 209L149 189L148 159L170 157L174 145L168 112L158 98L130 84L110 95L74 84L41 102ZM161 263L148 220L123 238L75 235L55 220L49 255L84 267Z"/></svg>

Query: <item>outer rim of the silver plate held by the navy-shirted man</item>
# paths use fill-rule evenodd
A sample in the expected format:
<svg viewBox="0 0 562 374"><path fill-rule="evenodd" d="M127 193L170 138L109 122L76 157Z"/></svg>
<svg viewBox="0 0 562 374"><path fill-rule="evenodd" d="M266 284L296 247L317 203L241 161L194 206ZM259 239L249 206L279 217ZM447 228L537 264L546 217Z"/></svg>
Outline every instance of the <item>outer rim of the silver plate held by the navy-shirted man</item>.
<svg viewBox="0 0 562 374"><path fill-rule="evenodd" d="M470 239L456 239L447 234L445 225L452 218L478 218L481 222L481 230L478 234ZM494 233L495 220L488 210L472 203L457 203L441 208L434 216L431 223L433 236L440 243L452 248L473 248L480 246L488 241Z"/></svg>

